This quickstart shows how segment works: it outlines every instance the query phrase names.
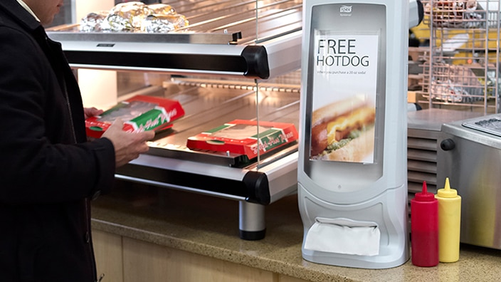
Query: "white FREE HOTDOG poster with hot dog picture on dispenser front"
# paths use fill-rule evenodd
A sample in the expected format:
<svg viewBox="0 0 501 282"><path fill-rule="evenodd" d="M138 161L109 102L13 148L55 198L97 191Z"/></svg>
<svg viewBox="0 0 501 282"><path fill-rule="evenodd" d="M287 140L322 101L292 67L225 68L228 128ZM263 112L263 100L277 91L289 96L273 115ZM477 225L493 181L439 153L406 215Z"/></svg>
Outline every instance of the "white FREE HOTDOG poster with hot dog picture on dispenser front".
<svg viewBox="0 0 501 282"><path fill-rule="evenodd" d="M310 160L374 163L379 35L315 30Z"/></svg>

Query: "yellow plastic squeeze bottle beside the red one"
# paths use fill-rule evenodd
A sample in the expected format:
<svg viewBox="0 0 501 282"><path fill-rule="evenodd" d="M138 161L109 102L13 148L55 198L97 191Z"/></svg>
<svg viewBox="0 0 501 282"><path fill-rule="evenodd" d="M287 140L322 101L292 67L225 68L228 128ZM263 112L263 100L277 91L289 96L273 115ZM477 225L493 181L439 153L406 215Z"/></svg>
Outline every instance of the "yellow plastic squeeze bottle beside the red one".
<svg viewBox="0 0 501 282"><path fill-rule="evenodd" d="M438 189L438 261L448 263L459 260L459 239L461 227L461 197L458 191L450 189L449 178L445 187Z"/></svg>

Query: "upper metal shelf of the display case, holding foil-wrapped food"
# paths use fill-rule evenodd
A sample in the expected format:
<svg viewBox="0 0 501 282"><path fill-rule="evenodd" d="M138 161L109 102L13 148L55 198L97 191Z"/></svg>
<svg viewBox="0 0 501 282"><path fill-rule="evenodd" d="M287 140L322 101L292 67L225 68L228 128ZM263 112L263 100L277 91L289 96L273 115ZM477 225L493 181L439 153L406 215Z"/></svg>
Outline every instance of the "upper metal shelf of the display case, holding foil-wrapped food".
<svg viewBox="0 0 501 282"><path fill-rule="evenodd" d="M80 32L58 26L73 68L237 75L268 79L300 68L302 4L297 1L176 1L190 24L172 33Z"/></svg>

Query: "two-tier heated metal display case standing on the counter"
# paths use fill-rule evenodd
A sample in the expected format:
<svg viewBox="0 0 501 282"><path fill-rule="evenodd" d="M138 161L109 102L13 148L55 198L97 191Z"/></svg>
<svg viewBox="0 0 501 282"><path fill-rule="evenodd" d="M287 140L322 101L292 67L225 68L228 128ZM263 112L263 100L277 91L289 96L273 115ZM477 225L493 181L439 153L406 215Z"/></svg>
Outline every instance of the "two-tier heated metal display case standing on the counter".
<svg viewBox="0 0 501 282"><path fill-rule="evenodd" d="M297 142L248 158L190 150L186 140L232 120L257 122L257 136L263 122L297 128L302 1L167 2L189 26L169 33L83 32L75 23L51 28L48 36L62 43L75 69L144 78L144 88L119 91L117 102L141 93L184 108L172 129L149 142L147 154L117 169L117 179L237 200L241 238L262 239L265 206L296 191ZM162 79L152 83L152 77Z"/></svg>

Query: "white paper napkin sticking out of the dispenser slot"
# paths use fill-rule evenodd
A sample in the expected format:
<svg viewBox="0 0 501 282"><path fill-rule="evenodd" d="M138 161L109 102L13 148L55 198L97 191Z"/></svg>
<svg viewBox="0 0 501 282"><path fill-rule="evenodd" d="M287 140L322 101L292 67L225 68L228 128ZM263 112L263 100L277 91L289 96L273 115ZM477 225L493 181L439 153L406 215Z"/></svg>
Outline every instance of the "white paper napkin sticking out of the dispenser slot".
<svg viewBox="0 0 501 282"><path fill-rule="evenodd" d="M305 239L305 249L337 254L376 256L381 231L375 222L317 218Z"/></svg>

